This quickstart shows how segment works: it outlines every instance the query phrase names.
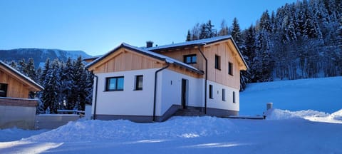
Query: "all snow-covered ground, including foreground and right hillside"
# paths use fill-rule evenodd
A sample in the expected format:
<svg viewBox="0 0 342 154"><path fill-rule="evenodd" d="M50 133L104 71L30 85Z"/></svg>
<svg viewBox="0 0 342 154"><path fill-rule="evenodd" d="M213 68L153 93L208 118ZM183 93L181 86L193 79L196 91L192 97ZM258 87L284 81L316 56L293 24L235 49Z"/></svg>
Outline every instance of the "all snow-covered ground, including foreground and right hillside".
<svg viewBox="0 0 342 154"><path fill-rule="evenodd" d="M249 85L241 113L261 115L273 102L266 120L79 120L54 130L0 130L0 153L342 153L341 84L336 77Z"/></svg>

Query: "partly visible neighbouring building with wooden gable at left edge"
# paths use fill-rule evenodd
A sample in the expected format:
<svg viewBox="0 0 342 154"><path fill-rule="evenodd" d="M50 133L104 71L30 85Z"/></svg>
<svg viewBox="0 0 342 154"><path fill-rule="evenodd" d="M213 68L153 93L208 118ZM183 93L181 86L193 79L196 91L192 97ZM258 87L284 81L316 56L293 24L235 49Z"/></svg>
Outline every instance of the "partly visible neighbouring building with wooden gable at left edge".
<svg viewBox="0 0 342 154"><path fill-rule="evenodd" d="M41 91L38 83L0 61L0 128L33 129L38 100L31 91Z"/></svg>

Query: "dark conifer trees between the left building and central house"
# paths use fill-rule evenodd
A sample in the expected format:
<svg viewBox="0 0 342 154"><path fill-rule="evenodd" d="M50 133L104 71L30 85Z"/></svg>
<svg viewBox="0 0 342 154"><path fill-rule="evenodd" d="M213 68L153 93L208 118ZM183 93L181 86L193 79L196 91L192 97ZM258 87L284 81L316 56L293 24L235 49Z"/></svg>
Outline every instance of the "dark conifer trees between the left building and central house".
<svg viewBox="0 0 342 154"><path fill-rule="evenodd" d="M33 58L7 62L13 68L43 86L44 90L30 93L38 98L37 113L57 113L57 110L84 111L91 104L93 95L93 74L84 68L81 56L66 62L49 58L43 68L35 68Z"/></svg>

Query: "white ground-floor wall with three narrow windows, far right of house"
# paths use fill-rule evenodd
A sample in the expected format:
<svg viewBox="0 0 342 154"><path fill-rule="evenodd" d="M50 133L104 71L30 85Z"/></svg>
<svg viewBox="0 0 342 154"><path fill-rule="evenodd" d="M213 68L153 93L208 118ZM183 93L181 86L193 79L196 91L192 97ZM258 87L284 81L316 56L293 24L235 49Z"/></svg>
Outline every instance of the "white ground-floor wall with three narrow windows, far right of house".
<svg viewBox="0 0 342 154"><path fill-rule="evenodd" d="M209 85L213 86L213 98L209 98ZM226 101L222 101L222 89L226 91ZM235 103L233 103L233 91ZM219 83L207 81L207 108L218 108L229 111L239 111L239 90Z"/></svg>

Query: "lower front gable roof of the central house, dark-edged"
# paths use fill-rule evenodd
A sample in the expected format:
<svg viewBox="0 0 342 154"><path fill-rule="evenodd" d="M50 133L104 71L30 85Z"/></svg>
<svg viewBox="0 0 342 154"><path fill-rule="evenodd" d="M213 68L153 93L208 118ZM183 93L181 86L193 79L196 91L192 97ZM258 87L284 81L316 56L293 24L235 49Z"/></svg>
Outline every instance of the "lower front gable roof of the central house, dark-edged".
<svg viewBox="0 0 342 154"><path fill-rule="evenodd" d="M173 64L175 64L177 66L182 66L182 67L187 68L187 69L189 69L191 71L195 71L196 73L204 74L202 71L199 71L197 68L195 68L193 66L190 66L190 65L188 65L186 63L183 63L181 61L177 61L174 58L170 58L168 56L164 56L164 55L161 55L159 53L148 51L145 48L138 48L138 47L135 47L135 46L131 46L128 43L121 43L120 46L117 46L112 51L110 51L108 53L105 53L103 56L100 56L99 58L96 58L95 61L92 61L92 62L88 63L86 65L86 68L90 68L95 63L98 63L99 61L101 61L103 58L109 56L110 54L114 53L115 51L118 51L119 48L128 48L128 49L130 49L132 51L135 51L137 53L141 53L141 54L143 54L145 56L150 56L152 58L158 59L160 61L165 61L167 63L173 63Z"/></svg>

